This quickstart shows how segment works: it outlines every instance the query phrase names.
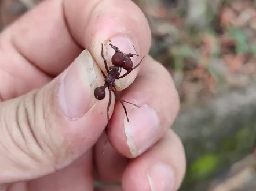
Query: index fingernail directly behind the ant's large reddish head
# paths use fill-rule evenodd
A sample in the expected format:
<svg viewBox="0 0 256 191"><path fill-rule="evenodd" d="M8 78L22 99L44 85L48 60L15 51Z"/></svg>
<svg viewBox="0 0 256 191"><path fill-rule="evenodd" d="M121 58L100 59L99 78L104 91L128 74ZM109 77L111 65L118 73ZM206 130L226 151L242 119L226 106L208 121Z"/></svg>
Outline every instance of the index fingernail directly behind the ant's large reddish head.
<svg viewBox="0 0 256 191"><path fill-rule="evenodd" d="M113 48L111 48L111 46L109 46L109 43L111 42L112 45L116 46L119 48L120 51L122 51L123 53L126 54L138 54L140 55L140 50L137 50L138 48L135 47L135 44L133 43L133 41L125 35L116 35L113 36L112 38L108 39L105 42L105 48L107 49L107 51L104 51L104 57L108 58L107 62L108 65L111 66L111 58L112 55L115 53L115 50ZM134 47L135 48L134 48ZM136 55L134 55L133 57L130 57L131 61L133 61L133 66L135 66L137 64L137 60L138 57ZM125 74L127 71L125 69L122 69L121 75ZM116 86L120 87L120 88L125 88L127 87L127 85L129 85L131 82L134 80L133 76L136 76L137 73L137 69L134 69L133 72L131 72L127 77L124 77L120 80L116 80Z"/></svg>

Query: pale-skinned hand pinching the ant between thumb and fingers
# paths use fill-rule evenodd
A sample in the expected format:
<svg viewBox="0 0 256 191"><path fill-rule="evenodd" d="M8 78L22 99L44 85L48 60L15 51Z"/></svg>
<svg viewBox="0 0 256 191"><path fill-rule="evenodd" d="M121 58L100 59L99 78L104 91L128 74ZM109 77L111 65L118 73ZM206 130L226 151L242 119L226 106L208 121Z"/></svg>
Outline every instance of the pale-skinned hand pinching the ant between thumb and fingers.
<svg viewBox="0 0 256 191"><path fill-rule="evenodd" d="M44 1L1 33L0 191L93 190L93 179L125 191L180 187L185 153L170 129L178 95L149 55L119 82L122 99L142 107L126 104L127 124L122 105L111 105L112 147L101 153L109 93L97 100L93 88L104 83L97 67L105 71L101 43L109 39L125 53L134 45L133 62L148 54L149 25L130 0ZM81 59L84 49L95 71Z"/></svg>

